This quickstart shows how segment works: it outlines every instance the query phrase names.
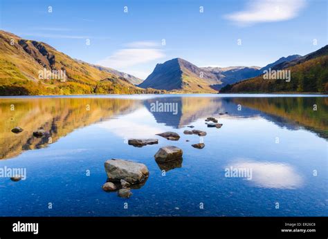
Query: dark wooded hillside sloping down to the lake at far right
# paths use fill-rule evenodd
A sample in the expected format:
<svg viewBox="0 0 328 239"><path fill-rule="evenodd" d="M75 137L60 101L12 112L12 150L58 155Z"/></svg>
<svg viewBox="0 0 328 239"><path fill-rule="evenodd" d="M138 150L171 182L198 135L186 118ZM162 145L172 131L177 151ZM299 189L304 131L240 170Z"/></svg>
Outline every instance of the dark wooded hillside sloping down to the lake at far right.
<svg viewBox="0 0 328 239"><path fill-rule="evenodd" d="M292 61L277 64L273 66L273 70L290 73L290 81L264 79L264 75L260 75L243 82L229 84L221 88L220 93L328 93L328 45L304 57L296 57Z"/></svg>

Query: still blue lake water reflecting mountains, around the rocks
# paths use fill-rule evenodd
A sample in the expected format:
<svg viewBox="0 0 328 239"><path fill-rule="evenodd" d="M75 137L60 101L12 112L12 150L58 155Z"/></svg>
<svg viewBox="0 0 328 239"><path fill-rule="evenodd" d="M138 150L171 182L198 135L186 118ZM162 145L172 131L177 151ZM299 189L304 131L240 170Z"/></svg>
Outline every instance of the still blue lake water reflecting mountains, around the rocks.
<svg viewBox="0 0 328 239"><path fill-rule="evenodd" d="M152 112L154 102L178 111ZM208 128L210 116L223 126ZM208 134L184 135L189 125ZM33 137L40 127L50 144ZM165 131L180 140L155 135ZM136 148L131 137L159 144ZM2 97L0 169L26 168L26 180L0 178L0 216L328 216L327 140L327 96ZM183 149L183 162L163 175L154 154L167 145ZM129 199L102 191L111 158L149 169ZM228 178L230 167L252 178Z"/></svg>

